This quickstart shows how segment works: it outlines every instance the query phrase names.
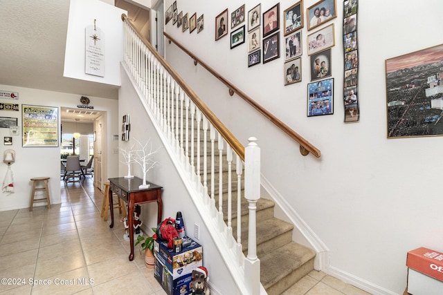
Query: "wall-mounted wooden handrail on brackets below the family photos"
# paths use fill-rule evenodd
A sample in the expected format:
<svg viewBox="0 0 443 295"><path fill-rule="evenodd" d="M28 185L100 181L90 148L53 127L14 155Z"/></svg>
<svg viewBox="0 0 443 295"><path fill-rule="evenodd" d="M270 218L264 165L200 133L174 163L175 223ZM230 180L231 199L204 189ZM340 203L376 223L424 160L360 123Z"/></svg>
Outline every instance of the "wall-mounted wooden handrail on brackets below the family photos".
<svg viewBox="0 0 443 295"><path fill-rule="evenodd" d="M320 158L320 155L321 155L320 151L315 146L313 146L311 143L309 143L307 140L305 140L305 138L303 138L301 135L296 133L296 131L293 131L291 128L289 128L289 126L287 126L287 124L284 124L277 117L275 117L274 115L269 113L269 111L267 111L264 107L260 106L260 104L257 104L257 102L255 102L251 97L246 95L246 93L244 93L239 88L237 88L234 84L229 82L228 79L221 76L219 73L217 73L216 70L214 70L213 68L208 66L208 64L206 64L204 61L199 59L197 56L195 56L189 50L184 48L181 44L179 44L179 42L177 42L177 40L175 40L170 35L168 35L168 33L163 32L163 35L165 35L165 37L170 40L169 41L170 43L171 43L171 41L174 42L174 44L177 45L177 47L179 47L187 55L189 55L192 59L194 59L194 64L196 66L197 66L197 64L200 64L201 66L206 68L206 70L208 70L209 73L213 74L223 84L228 86L230 95L237 93L237 95L239 97L242 97L242 99L244 99L248 104L250 104L251 106L253 106L253 108L255 108L257 111L262 113L262 115L264 115L264 117L268 118L271 122L273 122L273 124L278 126L278 128L282 129L282 131L284 133L286 133L287 135L289 135L289 137L291 137L293 140L298 142L300 144L300 153L302 155L308 155L309 153L311 153L311 154L315 155L317 158Z"/></svg>

